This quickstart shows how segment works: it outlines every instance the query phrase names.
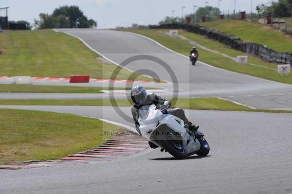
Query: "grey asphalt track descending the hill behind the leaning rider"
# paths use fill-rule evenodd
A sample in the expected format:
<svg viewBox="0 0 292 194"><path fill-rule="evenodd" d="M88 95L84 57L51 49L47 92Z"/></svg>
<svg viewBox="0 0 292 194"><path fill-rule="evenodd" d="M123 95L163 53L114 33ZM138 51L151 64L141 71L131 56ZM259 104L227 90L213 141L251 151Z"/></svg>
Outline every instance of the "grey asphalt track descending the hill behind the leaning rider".
<svg viewBox="0 0 292 194"><path fill-rule="evenodd" d="M198 62L191 66L188 58L173 53L155 42L139 35L112 30L88 29L58 29L60 32L70 33L82 38L92 49L101 53L117 64L136 56L137 61L129 63L126 68L132 71L150 72L160 79L173 82L178 80L178 88L173 90L172 85L147 85L148 87L166 88L165 97L173 93L179 97L221 97L260 109L287 109L292 110L292 85L276 83L236 72L225 71ZM139 55L150 55L147 60ZM150 61L157 57L164 61L171 71L156 62ZM45 82L44 82L45 83ZM54 85L63 85L55 82ZM117 85L119 86L119 85ZM130 86L128 86L130 87ZM125 98L125 94L116 94L117 98ZM1 94L1 99L47 98L45 94ZM80 95L80 94L52 94L52 99L94 99L109 98L108 95Z"/></svg>

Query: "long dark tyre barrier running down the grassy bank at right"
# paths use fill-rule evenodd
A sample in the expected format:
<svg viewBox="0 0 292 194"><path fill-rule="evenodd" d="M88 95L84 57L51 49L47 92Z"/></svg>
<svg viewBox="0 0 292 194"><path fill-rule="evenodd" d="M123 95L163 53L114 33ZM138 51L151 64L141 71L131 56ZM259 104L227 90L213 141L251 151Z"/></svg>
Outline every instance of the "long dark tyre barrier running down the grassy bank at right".
<svg viewBox="0 0 292 194"><path fill-rule="evenodd" d="M240 38L238 38L237 36L222 33L217 30L201 27L198 24L184 24L183 30L186 30L188 32L192 32L195 34L207 36L210 39L219 41L220 43L227 45L229 48L232 48L244 53L254 54L272 63L278 63L278 64L292 63L292 53L278 53L278 52L275 52L273 49L270 49L263 45L245 42L241 40Z"/></svg>

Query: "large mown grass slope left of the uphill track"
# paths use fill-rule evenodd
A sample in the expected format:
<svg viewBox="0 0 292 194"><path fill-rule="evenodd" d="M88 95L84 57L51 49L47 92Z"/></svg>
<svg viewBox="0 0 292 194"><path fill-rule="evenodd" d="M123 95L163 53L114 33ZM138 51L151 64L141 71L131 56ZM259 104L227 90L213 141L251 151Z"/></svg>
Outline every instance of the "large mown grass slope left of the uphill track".
<svg viewBox="0 0 292 194"><path fill-rule="evenodd" d="M53 30L1 33L0 47L4 51L0 54L0 76L67 78L72 74L87 74L91 78L109 79L116 68L120 69L98 61L100 56L80 40ZM131 73L122 69L116 78L128 79ZM142 75L138 79L151 80Z"/></svg>

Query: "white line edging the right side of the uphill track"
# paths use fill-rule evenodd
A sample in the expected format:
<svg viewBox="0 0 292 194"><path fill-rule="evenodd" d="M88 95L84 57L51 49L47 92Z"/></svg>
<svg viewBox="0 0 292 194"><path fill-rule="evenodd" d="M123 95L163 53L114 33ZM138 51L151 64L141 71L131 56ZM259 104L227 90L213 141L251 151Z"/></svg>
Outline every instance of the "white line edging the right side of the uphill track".
<svg viewBox="0 0 292 194"><path fill-rule="evenodd" d="M183 55L182 53L178 53L178 52L176 52L176 51L173 51L173 50L171 50L171 49L165 47L164 45L160 44L160 43L157 42L156 40L153 40L153 39L151 39L151 38L149 38L149 37L147 37L147 36L145 36L145 35L139 35L139 34L132 33L132 32L126 32L126 33L129 33L129 34L133 34L133 35L138 35L138 36L144 37L144 38L146 38L146 39L148 39L148 40L150 40L150 41L152 41L152 42L158 44L159 46L163 47L164 49L166 49L166 50L168 50L168 51L170 51L170 52L172 52L172 53L176 53L176 54L179 54L179 55L181 55L181 56L183 56L183 57L185 57L185 58L189 58L188 56L185 56L185 55ZM248 76L248 77L252 77L252 78L256 78L256 79L261 79L261 80L265 80L265 81L269 81L269 82L273 82L273 83L277 83L277 84L284 84L284 83L275 82L275 81L267 80L267 79L260 78L260 77L254 77L254 76L252 76L252 75L247 75L247 74L243 74L243 73L238 73L238 72L235 72L235 71L224 70L224 69L221 69L221 68L218 68L218 67L214 67L214 66L212 66L212 65L210 65L210 64L207 64L207 63L204 63L204 62L201 62L201 61L198 61L198 62L200 62L201 64L206 65L206 66L208 66L208 67L210 67L210 68L218 69L218 70L221 70L221 71L233 72L233 73L237 73L237 74L240 74L240 75L245 75L245 76ZM288 84L286 84L286 85L288 85Z"/></svg>

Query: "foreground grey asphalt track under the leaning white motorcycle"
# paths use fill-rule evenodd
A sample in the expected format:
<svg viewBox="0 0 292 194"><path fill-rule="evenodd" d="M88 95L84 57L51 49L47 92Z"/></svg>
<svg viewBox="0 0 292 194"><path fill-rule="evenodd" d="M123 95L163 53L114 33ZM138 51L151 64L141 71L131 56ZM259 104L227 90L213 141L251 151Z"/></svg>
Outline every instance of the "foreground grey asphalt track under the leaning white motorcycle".
<svg viewBox="0 0 292 194"><path fill-rule="evenodd" d="M112 107L0 106L112 119ZM130 114L128 107L123 111ZM211 146L209 157L175 160L159 149L109 162L0 172L1 194L288 194L290 114L188 110ZM116 117L115 121L125 122ZM110 130L110 129L109 129Z"/></svg>

